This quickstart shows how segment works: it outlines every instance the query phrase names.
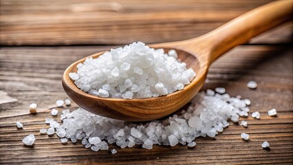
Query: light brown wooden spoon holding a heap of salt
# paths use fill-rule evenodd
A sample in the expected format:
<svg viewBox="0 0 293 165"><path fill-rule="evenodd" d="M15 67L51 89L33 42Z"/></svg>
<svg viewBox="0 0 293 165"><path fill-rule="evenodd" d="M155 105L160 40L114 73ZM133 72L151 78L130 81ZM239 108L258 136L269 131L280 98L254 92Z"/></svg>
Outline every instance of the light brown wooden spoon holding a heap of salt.
<svg viewBox="0 0 293 165"><path fill-rule="evenodd" d="M179 58L192 67L197 76L183 90L158 98L116 99L100 98L87 94L69 78L76 72L76 65L85 58L70 65L63 75L63 87L67 95L80 107L109 118L129 121L147 121L162 118L177 111L189 102L204 85L208 68L216 58L236 45L246 43L250 38L268 30L292 17L292 0L275 1L251 10L221 27L195 39L172 43L150 45L153 48L174 49ZM97 58L104 52L91 55Z"/></svg>

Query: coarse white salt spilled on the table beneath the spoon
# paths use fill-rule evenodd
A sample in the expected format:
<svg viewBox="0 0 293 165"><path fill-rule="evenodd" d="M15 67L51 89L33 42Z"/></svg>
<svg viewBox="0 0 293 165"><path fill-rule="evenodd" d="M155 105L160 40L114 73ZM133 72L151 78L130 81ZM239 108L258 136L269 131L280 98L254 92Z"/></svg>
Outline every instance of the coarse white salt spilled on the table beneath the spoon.
<svg viewBox="0 0 293 165"><path fill-rule="evenodd" d="M72 142L81 141L85 148L92 151L107 150L108 144L116 144L120 148L132 147L135 144L151 149L154 144L175 146L184 144L188 147L196 145L196 137L215 137L229 125L228 119L238 121L239 114L248 110L245 100L230 97L228 94L216 94L209 89L193 98L191 105L166 120L154 120L144 124L114 120L95 115L84 109L70 112L63 110L58 124L47 118L50 124L48 135L56 134ZM243 109L245 111L243 111ZM57 123L57 124L56 124ZM111 153L116 153L112 150Z"/></svg>

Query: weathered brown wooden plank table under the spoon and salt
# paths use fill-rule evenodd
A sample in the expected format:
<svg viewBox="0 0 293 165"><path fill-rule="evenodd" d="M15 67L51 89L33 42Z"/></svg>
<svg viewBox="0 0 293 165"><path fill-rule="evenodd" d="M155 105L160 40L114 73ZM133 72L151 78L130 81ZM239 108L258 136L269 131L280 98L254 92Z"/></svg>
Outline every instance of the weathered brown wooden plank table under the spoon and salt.
<svg viewBox="0 0 293 165"><path fill-rule="evenodd" d="M39 130L47 128L45 118L52 116L28 111L32 102L48 109L67 98L61 77L79 58L132 41L199 36L269 1L0 2L0 102L7 102L0 104L0 164L293 164L292 22L236 47L213 64L204 89L225 87L231 96L249 98L250 109L260 111L261 120L249 116L247 129L230 123L215 138L197 138L194 149L110 145L118 153L94 152L80 142L64 145L56 135L40 135ZM249 80L259 87L248 89ZM272 108L278 111L276 117L267 115ZM24 129L17 129L17 121ZM250 134L249 142L241 140L243 132ZM36 136L32 148L21 142L30 133ZM265 140L270 151L261 148Z"/></svg>

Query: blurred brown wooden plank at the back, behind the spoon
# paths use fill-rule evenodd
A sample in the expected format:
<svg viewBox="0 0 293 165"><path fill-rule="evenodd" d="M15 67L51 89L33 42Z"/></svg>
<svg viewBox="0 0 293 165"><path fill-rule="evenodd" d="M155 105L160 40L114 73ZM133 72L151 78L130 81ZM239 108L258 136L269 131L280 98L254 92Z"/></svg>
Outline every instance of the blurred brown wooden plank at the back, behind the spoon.
<svg viewBox="0 0 293 165"><path fill-rule="evenodd" d="M113 45L180 41L205 34L270 1L2 0L0 44ZM292 34L292 30L287 32Z"/></svg>

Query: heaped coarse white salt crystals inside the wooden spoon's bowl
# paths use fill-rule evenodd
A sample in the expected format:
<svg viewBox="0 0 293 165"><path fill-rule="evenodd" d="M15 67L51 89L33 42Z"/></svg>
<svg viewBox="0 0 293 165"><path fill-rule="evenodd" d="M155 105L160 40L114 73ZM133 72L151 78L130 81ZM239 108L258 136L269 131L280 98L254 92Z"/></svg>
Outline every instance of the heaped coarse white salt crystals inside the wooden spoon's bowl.
<svg viewBox="0 0 293 165"><path fill-rule="evenodd" d="M102 98L158 97L183 89L195 77L175 50L165 54L141 42L87 58L76 67L77 73L69 73L76 86Z"/></svg>

